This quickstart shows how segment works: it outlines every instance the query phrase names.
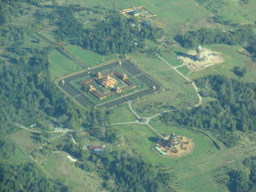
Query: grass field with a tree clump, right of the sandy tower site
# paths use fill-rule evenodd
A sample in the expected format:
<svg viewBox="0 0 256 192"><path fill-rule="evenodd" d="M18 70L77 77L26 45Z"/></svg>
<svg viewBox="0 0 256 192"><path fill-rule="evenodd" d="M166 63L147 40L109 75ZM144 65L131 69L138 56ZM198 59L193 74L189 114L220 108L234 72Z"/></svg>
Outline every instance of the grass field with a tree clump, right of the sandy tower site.
<svg viewBox="0 0 256 192"><path fill-rule="evenodd" d="M256 66L253 61L250 60L246 55L241 55L237 52L237 50L241 49L240 46L229 46L224 44L212 44L207 45L207 49L212 49L214 51L218 51L223 54L224 62L221 64L217 64L212 67L207 67L204 70L190 73L189 77L192 79L201 78L211 74L220 74L228 76L232 79L239 79L246 82L255 82L256 81ZM240 78L237 77L232 69L234 67L247 67L247 74L245 77Z"/></svg>

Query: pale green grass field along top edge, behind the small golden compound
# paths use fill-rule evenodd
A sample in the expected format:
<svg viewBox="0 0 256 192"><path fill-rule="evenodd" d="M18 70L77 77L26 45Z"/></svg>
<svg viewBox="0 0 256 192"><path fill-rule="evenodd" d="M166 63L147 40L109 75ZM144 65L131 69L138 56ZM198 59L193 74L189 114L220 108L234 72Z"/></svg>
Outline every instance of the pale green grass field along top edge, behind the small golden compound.
<svg viewBox="0 0 256 192"><path fill-rule="evenodd" d="M132 7L145 6L157 15L157 23L168 30L168 32L175 32L177 26L194 20L206 20L211 14L200 7L195 0L180 0L180 1L154 1L154 0L129 0L129 1L89 1L89 0L58 0L60 4L79 3L84 7L102 6L112 9L128 9ZM193 18L193 19L191 19ZM176 27L174 27L176 26ZM170 30L170 31L169 31Z"/></svg>

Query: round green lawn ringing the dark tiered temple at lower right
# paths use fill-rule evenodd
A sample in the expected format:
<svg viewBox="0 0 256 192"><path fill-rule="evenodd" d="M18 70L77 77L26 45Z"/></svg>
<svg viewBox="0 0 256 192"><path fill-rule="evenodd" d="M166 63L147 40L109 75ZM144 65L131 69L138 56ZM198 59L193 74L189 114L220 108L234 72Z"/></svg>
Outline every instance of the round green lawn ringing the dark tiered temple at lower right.
<svg viewBox="0 0 256 192"><path fill-rule="evenodd" d="M146 127L145 125L133 124L115 125L119 129L119 131L121 131L123 137L125 137L125 147L136 149L150 163L182 168L182 166L180 166L179 164L181 161L183 161L191 164L191 166L192 164L193 166L195 166L196 163L199 163L201 160L203 160L202 157L205 156L207 153L216 152L216 149L213 147L211 141L207 137L199 135L193 131L180 129L177 127L166 127L164 125L161 125L160 123L155 122L151 123L150 125L153 125L154 128L156 128L161 133L166 133L166 135L170 135L172 134L172 132L175 132L177 133L177 135L183 135L192 138L195 142L195 150L193 154L190 154L187 157L183 157L180 159L162 158L151 150L154 139L156 139L157 137L153 131L148 129L148 127ZM199 156L201 156L201 160Z"/></svg>

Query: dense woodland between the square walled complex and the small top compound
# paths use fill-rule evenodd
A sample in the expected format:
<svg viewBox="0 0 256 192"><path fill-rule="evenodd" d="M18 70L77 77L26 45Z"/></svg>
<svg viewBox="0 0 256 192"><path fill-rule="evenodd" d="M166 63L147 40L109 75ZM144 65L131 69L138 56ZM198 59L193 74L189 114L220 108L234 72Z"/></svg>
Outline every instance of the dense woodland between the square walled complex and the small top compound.
<svg viewBox="0 0 256 192"><path fill-rule="evenodd" d="M74 6L59 9L61 16L57 22L56 36L62 40L68 39L85 49L92 49L98 54L132 52L143 48L145 39L156 41L163 35L161 28L152 26L149 22L125 19L114 10L109 10L107 18L84 28L73 15L80 10Z"/></svg>

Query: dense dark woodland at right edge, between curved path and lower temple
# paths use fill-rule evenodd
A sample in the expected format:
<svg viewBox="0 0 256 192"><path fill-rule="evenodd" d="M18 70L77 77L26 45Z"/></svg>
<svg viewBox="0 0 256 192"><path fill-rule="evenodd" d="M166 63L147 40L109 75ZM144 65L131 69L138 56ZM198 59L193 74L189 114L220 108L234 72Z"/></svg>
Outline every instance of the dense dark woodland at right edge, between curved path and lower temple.
<svg viewBox="0 0 256 192"><path fill-rule="evenodd" d="M212 131L227 146L236 144L236 130L256 131L256 84L213 75L197 79L201 96L215 101L199 108L181 109L165 113L160 119L188 128Z"/></svg>

